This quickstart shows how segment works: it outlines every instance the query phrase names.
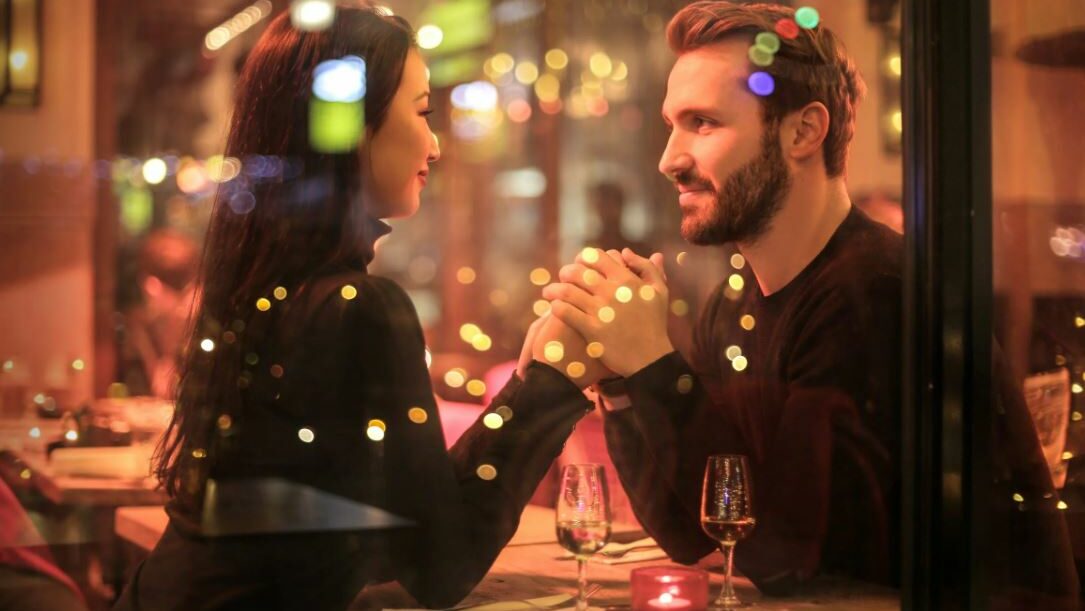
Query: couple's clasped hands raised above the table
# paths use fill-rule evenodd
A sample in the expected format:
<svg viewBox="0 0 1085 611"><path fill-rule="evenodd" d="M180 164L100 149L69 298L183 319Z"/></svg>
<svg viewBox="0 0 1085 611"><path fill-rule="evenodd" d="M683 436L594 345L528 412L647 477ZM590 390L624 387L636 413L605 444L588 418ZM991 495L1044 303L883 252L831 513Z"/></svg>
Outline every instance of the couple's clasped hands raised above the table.
<svg viewBox="0 0 1085 611"><path fill-rule="evenodd" d="M542 289L550 311L527 331L518 371L534 358L579 387L627 377L674 351L663 255L584 249Z"/></svg>

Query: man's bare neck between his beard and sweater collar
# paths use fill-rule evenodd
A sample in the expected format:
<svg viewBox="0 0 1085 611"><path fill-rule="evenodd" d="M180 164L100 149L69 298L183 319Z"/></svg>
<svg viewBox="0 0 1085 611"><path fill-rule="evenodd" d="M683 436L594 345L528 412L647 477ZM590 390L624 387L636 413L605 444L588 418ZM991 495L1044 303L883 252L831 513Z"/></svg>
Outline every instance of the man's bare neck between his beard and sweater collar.
<svg viewBox="0 0 1085 611"><path fill-rule="evenodd" d="M822 175L824 176L824 175ZM765 296L795 279L825 249L852 209L842 177L800 180L755 242L739 243Z"/></svg>

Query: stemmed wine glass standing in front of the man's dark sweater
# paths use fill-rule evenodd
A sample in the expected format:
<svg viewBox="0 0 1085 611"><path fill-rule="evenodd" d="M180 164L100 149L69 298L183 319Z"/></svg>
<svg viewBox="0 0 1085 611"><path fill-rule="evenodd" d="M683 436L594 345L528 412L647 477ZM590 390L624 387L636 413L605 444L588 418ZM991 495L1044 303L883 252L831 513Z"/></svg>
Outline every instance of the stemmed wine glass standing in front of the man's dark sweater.
<svg viewBox="0 0 1085 611"><path fill-rule="evenodd" d="M750 467L744 456L716 455L709 457L704 468L704 493L701 495L701 527L719 542L724 552L724 587L714 609L744 607L735 596L731 569L735 544L753 531L756 520L750 500Z"/></svg>

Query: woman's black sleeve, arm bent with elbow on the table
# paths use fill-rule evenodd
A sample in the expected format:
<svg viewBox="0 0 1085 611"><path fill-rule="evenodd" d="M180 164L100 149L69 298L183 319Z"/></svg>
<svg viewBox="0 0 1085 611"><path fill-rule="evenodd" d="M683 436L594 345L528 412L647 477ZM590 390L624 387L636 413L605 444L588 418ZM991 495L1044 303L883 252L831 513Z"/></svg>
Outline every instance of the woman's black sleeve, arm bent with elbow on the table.
<svg viewBox="0 0 1085 611"><path fill-rule="evenodd" d="M420 602L447 607L489 570L532 491L591 404L561 373L534 364L513 378L452 448L445 449L422 329L407 294L367 277L348 306L358 342L358 394L378 415L370 470L385 508L416 523L396 537L396 578ZM487 427L483 418L496 413ZM380 422L372 422L379 420ZM383 428L382 434L372 430Z"/></svg>

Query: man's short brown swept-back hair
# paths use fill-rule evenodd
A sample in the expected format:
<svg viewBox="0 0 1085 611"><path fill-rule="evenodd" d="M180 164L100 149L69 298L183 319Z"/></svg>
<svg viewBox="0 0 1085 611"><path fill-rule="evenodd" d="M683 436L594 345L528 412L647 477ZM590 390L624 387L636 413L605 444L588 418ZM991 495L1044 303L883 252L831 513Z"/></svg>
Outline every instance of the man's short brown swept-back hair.
<svg viewBox="0 0 1085 611"><path fill-rule="evenodd" d="M795 12L778 4L732 4L722 0L694 2L678 11L667 26L667 43L682 54L725 40L749 38L776 31L780 20L794 20ZM780 50L767 72L776 81L771 94L762 97L766 125L779 123L788 113L810 102L829 110L829 132L822 143L826 174L844 174L847 145L855 133L855 105L866 91L863 77L847 55L844 44L824 25L799 29L793 39L780 38Z"/></svg>

